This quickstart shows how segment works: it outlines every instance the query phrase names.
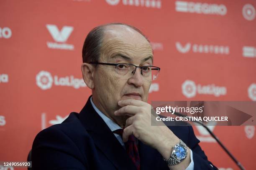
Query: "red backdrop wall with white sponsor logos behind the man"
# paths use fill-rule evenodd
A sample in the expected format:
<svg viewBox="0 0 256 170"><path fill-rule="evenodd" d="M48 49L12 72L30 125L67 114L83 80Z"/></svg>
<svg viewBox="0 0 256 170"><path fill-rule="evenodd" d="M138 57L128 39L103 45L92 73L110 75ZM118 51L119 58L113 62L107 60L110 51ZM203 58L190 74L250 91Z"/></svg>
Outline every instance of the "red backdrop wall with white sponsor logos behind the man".
<svg viewBox="0 0 256 170"><path fill-rule="evenodd" d="M134 25L151 40L161 72L148 102L255 101L255 8L255 0L1 0L0 160L26 160L40 130L82 109L91 94L82 45L105 23ZM210 128L255 169L255 126ZM194 130L216 166L238 169L209 133Z"/></svg>

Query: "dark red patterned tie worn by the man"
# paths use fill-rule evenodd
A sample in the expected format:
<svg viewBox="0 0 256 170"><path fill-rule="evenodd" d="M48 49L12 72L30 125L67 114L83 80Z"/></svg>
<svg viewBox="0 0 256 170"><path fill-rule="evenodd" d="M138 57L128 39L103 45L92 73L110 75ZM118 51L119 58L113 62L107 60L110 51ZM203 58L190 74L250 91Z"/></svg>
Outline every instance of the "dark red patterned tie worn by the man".
<svg viewBox="0 0 256 170"><path fill-rule="evenodd" d="M114 133L123 137L123 129L115 130ZM134 165L136 166L137 170L140 170L140 155L138 153L138 147L136 145L136 138L133 135L128 137L128 141L124 143L126 152L133 161Z"/></svg>

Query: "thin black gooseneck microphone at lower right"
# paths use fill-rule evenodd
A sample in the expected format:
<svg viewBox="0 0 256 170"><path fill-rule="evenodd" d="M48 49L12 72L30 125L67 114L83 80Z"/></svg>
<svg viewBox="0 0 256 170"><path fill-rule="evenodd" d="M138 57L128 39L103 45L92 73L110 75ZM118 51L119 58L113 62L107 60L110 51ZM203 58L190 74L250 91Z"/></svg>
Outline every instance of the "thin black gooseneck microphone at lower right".
<svg viewBox="0 0 256 170"><path fill-rule="evenodd" d="M181 116L181 117L188 117L186 115L182 115L181 113L179 112L174 112L174 115L177 115L177 116ZM221 146L221 148L223 150L225 150L225 152L228 154L228 156L236 163L236 165L241 169L241 170L245 170L245 168L243 167L243 165L229 152L229 150L223 145L223 143L220 142L220 140L218 139L218 137L216 135L214 135L214 133L212 133L212 131L202 122L199 122L197 120L191 120L191 122L196 122L200 125L202 125L209 133L210 135L212 136L212 138L214 138L217 143Z"/></svg>

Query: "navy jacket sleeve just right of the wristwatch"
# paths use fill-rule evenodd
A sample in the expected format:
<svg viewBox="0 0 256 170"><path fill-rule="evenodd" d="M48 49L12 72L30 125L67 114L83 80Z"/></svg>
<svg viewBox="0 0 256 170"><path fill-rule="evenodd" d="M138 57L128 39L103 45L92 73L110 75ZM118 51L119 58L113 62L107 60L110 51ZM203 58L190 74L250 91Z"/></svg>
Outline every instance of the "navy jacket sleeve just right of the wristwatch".
<svg viewBox="0 0 256 170"><path fill-rule="evenodd" d="M192 126L189 128L189 143L188 147L193 152L194 170L218 170L210 161L207 160L205 152L199 146L200 140L195 136Z"/></svg>

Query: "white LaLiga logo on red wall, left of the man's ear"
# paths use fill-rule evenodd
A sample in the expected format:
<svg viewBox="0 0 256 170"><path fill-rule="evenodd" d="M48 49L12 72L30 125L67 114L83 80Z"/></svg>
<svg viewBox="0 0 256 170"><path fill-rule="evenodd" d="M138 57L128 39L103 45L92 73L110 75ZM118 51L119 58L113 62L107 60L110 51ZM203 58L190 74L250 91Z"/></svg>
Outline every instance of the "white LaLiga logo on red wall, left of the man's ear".
<svg viewBox="0 0 256 170"><path fill-rule="evenodd" d="M36 85L42 90L50 89L53 84L56 86L70 86L75 89L86 87L83 79L74 78L73 75L65 77L54 75L53 77L50 72L43 70L36 75Z"/></svg>

